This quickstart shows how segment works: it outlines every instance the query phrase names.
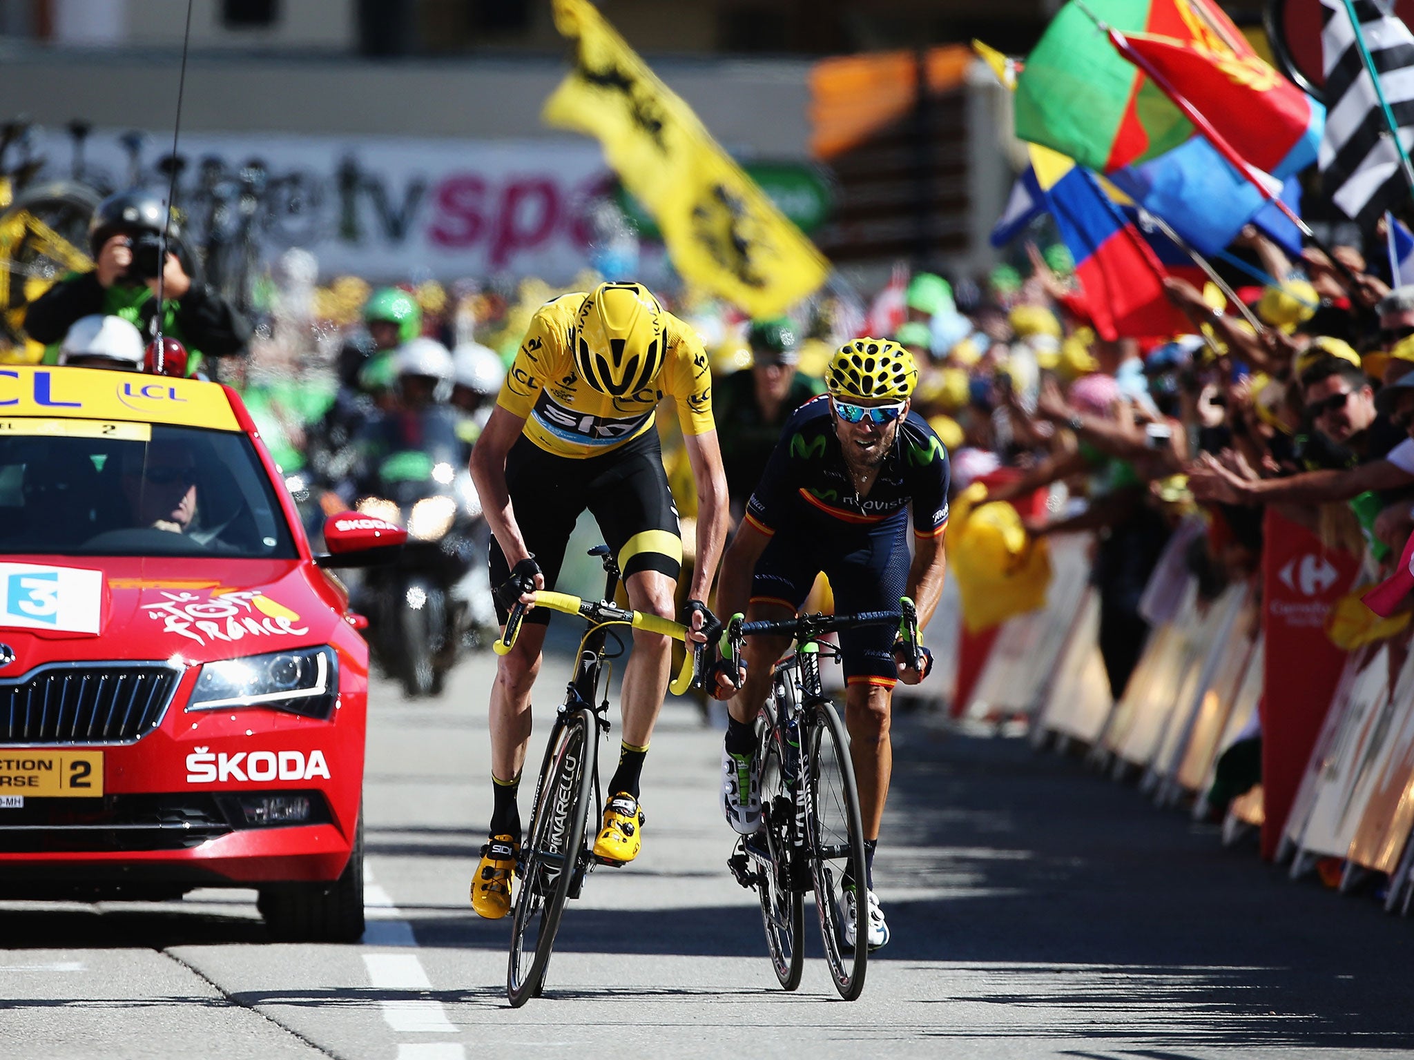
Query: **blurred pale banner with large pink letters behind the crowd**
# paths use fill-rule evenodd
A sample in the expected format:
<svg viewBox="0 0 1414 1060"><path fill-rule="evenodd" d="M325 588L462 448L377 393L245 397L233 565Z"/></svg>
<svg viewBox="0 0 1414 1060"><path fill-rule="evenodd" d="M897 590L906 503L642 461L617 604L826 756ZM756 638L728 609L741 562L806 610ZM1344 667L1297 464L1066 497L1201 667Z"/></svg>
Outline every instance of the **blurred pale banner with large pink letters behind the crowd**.
<svg viewBox="0 0 1414 1060"><path fill-rule="evenodd" d="M171 134L92 133L75 158L40 134L42 179L78 171L100 192L144 185L165 196ZM288 247L324 276L567 281L590 263L590 205L612 194L598 147L581 137L475 141L184 133L177 205L188 239L269 260Z"/></svg>

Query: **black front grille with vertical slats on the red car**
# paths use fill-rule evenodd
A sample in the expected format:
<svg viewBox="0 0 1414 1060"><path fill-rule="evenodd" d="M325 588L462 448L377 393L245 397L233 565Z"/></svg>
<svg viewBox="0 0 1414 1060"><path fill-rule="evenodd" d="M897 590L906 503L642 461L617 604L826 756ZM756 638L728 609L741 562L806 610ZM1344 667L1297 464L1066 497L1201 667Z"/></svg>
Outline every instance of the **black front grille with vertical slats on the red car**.
<svg viewBox="0 0 1414 1060"><path fill-rule="evenodd" d="M0 743L129 743L157 728L181 670L54 663L0 680Z"/></svg>

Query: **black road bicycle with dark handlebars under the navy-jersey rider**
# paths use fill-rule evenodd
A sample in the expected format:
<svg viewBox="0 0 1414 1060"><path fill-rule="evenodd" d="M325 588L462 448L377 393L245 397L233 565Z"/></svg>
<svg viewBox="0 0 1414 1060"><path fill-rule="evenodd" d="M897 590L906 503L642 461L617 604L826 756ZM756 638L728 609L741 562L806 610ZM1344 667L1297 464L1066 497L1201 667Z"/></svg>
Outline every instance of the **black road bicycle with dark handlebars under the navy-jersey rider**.
<svg viewBox="0 0 1414 1060"><path fill-rule="evenodd" d="M839 661L824 640L858 626L899 628L915 669L922 669L918 611L904 596L898 611L857 615L799 615L772 622L742 622L735 615L723 635L723 656L732 671L748 636L789 636L796 650L776 663L771 695L756 718L761 770L761 828L742 835L727 866L741 886L755 889L766 950L781 985L793 991L805 967L805 895L814 892L824 958L834 988L846 1001L864 989L868 947L846 943L844 881L865 879L864 824L850 760L848 736L839 712L820 688L820 660ZM861 895L863 899L863 895ZM868 937L868 902L854 903L854 938Z"/></svg>

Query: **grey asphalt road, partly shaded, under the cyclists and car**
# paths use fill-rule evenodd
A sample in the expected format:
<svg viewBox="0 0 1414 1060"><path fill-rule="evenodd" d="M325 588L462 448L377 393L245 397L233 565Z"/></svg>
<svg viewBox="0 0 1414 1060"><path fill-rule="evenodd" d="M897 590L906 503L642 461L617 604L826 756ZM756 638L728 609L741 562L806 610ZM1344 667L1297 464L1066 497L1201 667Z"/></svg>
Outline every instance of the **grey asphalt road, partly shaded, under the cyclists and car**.
<svg viewBox="0 0 1414 1060"><path fill-rule="evenodd" d="M373 695L362 946L266 941L253 892L0 905L0 1057L1383 1057L1414 1049L1414 924L1024 741L896 724L877 861L894 931L864 996L816 948L776 988L730 878L718 738L670 702L645 851L571 903L544 998L467 883L489 813L489 657L437 702ZM542 702L563 687L547 666ZM547 712L547 711L546 711ZM617 739L615 745L617 746ZM526 807L527 808L527 807ZM807 931L814 930L807 910Z"/></svg>

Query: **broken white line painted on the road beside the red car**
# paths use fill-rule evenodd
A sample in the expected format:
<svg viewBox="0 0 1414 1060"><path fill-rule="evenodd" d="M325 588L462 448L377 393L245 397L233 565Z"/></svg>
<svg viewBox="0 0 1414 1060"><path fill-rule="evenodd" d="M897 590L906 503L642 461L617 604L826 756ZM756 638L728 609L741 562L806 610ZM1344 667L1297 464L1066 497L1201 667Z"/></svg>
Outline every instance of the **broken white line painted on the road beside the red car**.
<svg viewBox="0 0 1414 1060"><path fill-rule="evenodd" d="M393 899L373 881L373 873L363 864L363 916L366 930L365 946L397 946L416 950L417 938L413 926L407 923ZM383 991L430 991L431 979L423 970L416 953L366 953L363 964L368 979L375 989ZM379 1002L383 1020L393 1030L416 1035L454 1035L457 1027L447 1019L447 1011L433 998L385 998ZM464 1060L460 1044L406 1044L397 1046L399 1060Z"/></svg>

